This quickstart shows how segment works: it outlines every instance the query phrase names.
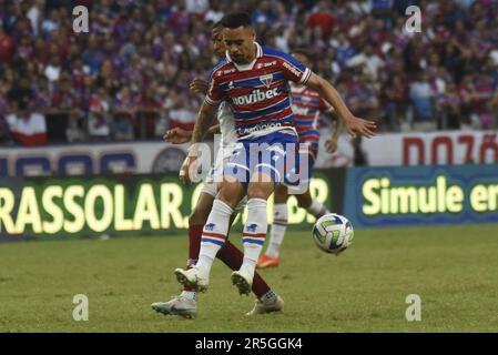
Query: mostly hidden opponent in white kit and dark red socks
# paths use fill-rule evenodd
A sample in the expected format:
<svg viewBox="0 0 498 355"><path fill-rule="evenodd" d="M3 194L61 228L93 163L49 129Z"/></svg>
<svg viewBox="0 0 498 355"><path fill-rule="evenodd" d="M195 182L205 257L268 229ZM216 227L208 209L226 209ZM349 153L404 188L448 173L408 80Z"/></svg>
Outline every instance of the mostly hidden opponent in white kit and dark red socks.
<svg viewBox="0 0 498 355"><path fill-rule="evenodd" d="M222 27L221 23L215 23L212 30L212 45L214 53L222 58L224 55L224 44L222 40ZM202 80L194 80L191 84L191 91L194 93L205 94L207 88ZM197 262L199 250L201 247L201 234L202 227L206 223L207 215L213 206L214 197L217 193L217 183L215 174L222 171L223 165L235 146L237 141L234 126L233 112L228 104L222 103L217 111L218 125L210 129L211 133L217 133L220 131L221 148L218 150L216 162L211 169L206 182L204 183L197 203L189 217L189 260L186 262L186 268L192 267ZM191 139L192 133L173 129L166 132L164 139L169 142L181 144L187 142ZM246 199L243 199L236 206L230 224L238 212L242 212L245 207ZM225 263L232 270L237 270L242 265L243 254L233 245L228 240L217 253L217 258ZM257 273L254 276L254 284L252 287L253 293L256 295L256 304L254 308L247 313L247 315L263 314L270 312L282 311L284 302L275 292L273 292L266 282ZM156 302L152 304L152 308L164 315L180 315L186 318L194 318L197 314L196 292L192 287L184 286L183 292L172 297L169 302Z"/></svg>

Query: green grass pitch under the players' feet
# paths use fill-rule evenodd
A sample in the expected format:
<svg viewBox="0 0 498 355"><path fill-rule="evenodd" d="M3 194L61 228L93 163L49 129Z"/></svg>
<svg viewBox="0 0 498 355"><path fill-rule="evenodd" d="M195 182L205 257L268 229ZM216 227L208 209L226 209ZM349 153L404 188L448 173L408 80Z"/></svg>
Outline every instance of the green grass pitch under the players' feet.
<svg viewBox="0 0 498 355"><path fill-rule="evenodd" d="M216 261L194 321L150 306L180 291L184 236L3 243L0 332L498 332L497 237L496 224L356 230L337 257L291 229L281 267L262 272L283 313L245 316L253 297ZM72 318L75 294L88 322ZM420 322L405 318L409 294Z"/></svg>

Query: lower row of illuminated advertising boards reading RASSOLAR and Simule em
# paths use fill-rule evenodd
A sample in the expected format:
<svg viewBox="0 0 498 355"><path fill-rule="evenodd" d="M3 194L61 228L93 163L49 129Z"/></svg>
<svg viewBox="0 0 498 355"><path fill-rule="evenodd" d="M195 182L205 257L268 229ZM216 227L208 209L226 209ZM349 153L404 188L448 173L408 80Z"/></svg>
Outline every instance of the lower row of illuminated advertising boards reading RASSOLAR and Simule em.
<svg viewBox="0 0 498 355"><path fill-rule="evenodd" d="M311 190L355 227L498 222L497 164L318 170ZM0 240L185 233L200 193L176 174L2 178ZM311 229L294 197L288 209L289 224Z"/></svg>

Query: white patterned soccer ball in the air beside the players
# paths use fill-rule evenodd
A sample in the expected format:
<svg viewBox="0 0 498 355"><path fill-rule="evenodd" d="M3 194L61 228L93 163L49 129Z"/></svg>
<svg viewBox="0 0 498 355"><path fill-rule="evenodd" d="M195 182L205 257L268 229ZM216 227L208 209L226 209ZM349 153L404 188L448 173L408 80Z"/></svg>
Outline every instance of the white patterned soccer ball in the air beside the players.
<svg viewBox="0 0 498 355"><path fill-rule="evenodd" d="M353 236L350 222L336 213L321 216L313 226L313 240L325 253L339 254L350 245Z"/></svg>

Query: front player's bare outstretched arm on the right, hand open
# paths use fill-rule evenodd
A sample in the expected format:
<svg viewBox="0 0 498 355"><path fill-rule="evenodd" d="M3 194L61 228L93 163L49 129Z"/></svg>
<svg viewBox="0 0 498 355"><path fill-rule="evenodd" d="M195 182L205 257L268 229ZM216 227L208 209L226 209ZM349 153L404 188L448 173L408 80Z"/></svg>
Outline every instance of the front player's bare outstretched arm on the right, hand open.
<svg viewBox="0 0 498 355"><path fill-rule="evenodd" d="M356 118L349 111L337 90L335 90L335 88L328 81L312 72L309 79L306 82L306 85L316 90L321 94L321 97L335 109L337 114L344 120L349 134L355 136L356 133L358 133L366 138L375 135L375 122Z"/></svg>

